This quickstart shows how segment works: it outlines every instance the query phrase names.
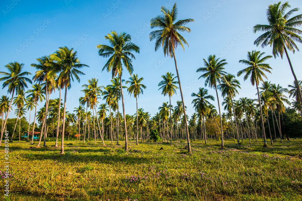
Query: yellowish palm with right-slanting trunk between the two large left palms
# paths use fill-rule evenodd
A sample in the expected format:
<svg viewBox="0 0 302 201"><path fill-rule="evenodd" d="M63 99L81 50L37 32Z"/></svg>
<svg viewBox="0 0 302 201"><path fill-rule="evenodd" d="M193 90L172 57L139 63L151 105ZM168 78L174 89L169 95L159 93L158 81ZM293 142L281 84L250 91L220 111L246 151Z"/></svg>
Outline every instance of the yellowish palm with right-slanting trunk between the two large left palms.
<svg viewBox="0 0 302 201"><path fill-rule="evenodd" d="M84 92L86 92L86 94L90 97L90 103L89 103L90 109L92 109L93 114L95 111L95 115L97 115L96 103L98 103L98 98L99 98L99 96L101 96L101 93L102 93L101 88L103 86L98 86L98 79L92 78L91 80L88 80L88 85L84 84L84 85L82 85L82 87L85 87ZM94 115L93 115L93 118L94 118ZM98 123L98 130L101 135L101 129L100 129L100 124L99 124L98 118L96 118L96 120ZM102 140L103 145L105 145L102 135L101 135L101 140ZM95 143L96 143L96 141L95 141Z"/></svg>

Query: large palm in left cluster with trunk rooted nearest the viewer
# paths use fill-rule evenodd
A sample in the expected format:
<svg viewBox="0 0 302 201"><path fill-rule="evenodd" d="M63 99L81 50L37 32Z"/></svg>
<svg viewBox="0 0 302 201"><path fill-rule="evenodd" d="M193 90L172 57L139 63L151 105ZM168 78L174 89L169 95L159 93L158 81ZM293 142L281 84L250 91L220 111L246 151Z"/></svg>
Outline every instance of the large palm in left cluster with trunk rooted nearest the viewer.
<svg viewBox="0 0 302 201"><path fill-rule="evenodd" d="M74 78L80 83L79 75L85 75L80 68L89 67L88 65L81 64L77 57L77 51L73 52L73 48L59 47L55 53L50 55L50 66L58 66L60 74L58 76L58 86L65 87L65 98L64 98L64 111L63 111L63 125L62 125L62 143L61 143L61 154L64 153L64 132L65 132L65 115L66 115L66 100L67 90L71 88L71 82Z"/></svg>

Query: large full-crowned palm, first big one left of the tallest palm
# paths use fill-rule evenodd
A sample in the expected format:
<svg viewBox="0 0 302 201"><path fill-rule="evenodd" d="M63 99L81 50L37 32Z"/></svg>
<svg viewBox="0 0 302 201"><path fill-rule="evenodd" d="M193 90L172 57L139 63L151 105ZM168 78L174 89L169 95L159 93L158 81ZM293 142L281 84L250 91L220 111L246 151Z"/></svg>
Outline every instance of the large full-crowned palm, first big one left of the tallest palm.
<svg viewBox="0 0 302 201"><path fill-rule="evenodd" d="M122 86L122 74L124 70L123 67L127 69L130 75L133 73L132 59L135 59L135 56L131 52L140 53L140 48L133 42L131 42L130 34L127 34L125 32L117 33L116 31L111 31L111 33L108 33L107 36L105 36L105 39L109 41L110 46L98 45L98 54L104 58L110 57L102 71L106 69L107 72L111 71L112 78L116 77L117 74L120 78L120 91L122 96L125 127L125 151L128 151L128 135Z"/></svg>

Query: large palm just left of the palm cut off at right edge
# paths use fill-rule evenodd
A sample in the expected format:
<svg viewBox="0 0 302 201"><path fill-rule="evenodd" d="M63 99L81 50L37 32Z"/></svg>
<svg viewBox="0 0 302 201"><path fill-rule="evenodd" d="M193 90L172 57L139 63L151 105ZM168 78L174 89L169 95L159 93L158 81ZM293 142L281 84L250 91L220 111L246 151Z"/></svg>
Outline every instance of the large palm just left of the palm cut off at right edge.
<svg viewBox="0 0 302 201"><path fill-rule="evenodd" d="M250 77L252 86L256 84L257 88L257 93L258 93L258 101L259 101L259 109L260 109L260 117L261 117L261 127L262 127L262 134L264 137L264 147L267 146L266 143L266 137L265 137L265 131L264 131L264 124L263 124L263 116L262 116L262 106L261 106L261 100L260 100L260 94L259 94L259 82L263 82L263 78L267 79L265 72L271 73L270 69L272 69L269 64L265 64L264 62L267 61L268 59L272 58L271 55L264 56L265 52L260 52L253 50L252 52L247 53L247 60L239 60L239 63L246 64L249 67L239 71L237 73L237 76L239 77L240 75L244 74L244 81L247 80Z"/></svg>

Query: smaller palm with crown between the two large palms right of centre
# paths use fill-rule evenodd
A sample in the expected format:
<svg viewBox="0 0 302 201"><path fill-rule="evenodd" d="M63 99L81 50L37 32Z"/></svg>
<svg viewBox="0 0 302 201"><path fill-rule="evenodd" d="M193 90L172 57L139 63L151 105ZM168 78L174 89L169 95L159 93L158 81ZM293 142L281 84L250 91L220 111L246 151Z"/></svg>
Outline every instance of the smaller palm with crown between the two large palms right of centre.
<svg viewBox="0 0 302 201"><path fill-rule="evenodd" d="M240 82L235 79L234 75L229 73L222 77L221 84L218 86L218 88L221 90L222 96L229 97L230 102L232 103L232 108L233 108L234 118L235 118L236 132L237 132L237 143L239 144L239 132L238 132L238 126L237 126L237 121L236 121L236 114L235 114L233 98L236 96L236 94L239 94L239 92L237 91L237 88L241 89ZM230 114L232 115L231 112L230 112ZM232 126L233 126L233 123L232 123Z"/></svg>

